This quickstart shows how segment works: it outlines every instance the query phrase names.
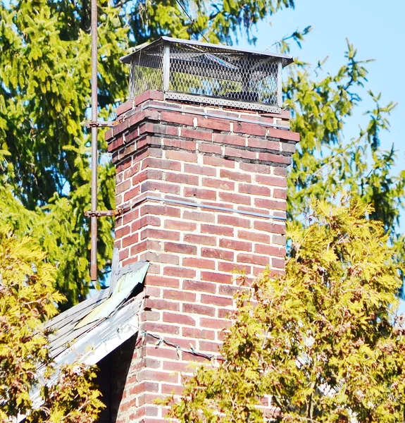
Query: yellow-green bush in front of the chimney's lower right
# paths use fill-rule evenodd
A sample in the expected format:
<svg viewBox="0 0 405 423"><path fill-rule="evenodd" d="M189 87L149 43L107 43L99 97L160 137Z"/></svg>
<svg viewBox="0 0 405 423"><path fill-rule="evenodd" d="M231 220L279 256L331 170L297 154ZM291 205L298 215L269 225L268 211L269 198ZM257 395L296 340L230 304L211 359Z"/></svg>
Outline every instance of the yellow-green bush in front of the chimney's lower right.
<svg viewBox="0 0 405 423"><path fill-rule="evenodd" d="M401 279L372 212L360 200L317 201L304 227L289 225L285 276L265 272L236 295L225 361L197 370L171 418L264 422L258 405L268 396L275 422L404 420L404 321L394 295Z"/></svg>

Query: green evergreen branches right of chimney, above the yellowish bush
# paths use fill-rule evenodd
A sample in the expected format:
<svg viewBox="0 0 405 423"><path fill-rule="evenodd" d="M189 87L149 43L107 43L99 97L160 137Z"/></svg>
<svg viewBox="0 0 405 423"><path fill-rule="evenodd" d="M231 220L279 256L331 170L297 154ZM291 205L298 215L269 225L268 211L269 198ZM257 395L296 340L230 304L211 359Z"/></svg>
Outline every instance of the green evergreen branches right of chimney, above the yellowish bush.
<svg viewBox="0 0 405 423"><path fill-rule="evenodd" d="M299 42L302 34L295 38ZM289 49L285 43L279 47ZM301 135L288 178L289 217L297 219L306 198L331 200L336 188L347 190L373 207L370 218L382 221L402 260L404 237L399 232L399 216L404 206L405 171L392 174L394 144L387 151L380 148L380 135L390 129L389 116L396 104L382 105L381 94L368 90L375 104L365 111L369 121L359 128L357 137L344 140L344 124L361 106L367 83L369 61L359 61L356 56L356 49L347 42L347 63L336 75L325 75L322 63L316 71L299 62L289 69L286 105L292 110L292 129Z"/></svg>

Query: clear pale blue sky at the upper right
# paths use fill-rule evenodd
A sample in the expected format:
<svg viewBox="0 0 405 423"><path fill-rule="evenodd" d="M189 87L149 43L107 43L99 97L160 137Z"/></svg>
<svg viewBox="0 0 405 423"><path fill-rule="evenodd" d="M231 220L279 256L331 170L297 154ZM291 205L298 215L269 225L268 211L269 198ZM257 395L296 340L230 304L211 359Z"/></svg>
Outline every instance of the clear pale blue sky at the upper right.
<svg viewBox="0 0 405 423"><path fill-rule="evenodd" d="M294 10L286 9L267 22L258 25L256 49L264 50L294 30L311 25L302 49L292 46L292 55L316 64L328 56L325 70L337 71L344 63L346 38L358 49L359 59L375 59L368 63L368 87L382 92L382 104L398 102L391 115L391 130L382 134L382 148L390 149L394 142L397 149L397 170L405 166L405 1L390 3L376 0L296 0ZM271 25L270 25L271 23ZM239 40L247 47L247 42ZM344 136L347 140L357 135L359 123L366 123L363 112L373 106L364 92L361 108L347 122ZM404 228L405 219L401 219Z"/></svg>

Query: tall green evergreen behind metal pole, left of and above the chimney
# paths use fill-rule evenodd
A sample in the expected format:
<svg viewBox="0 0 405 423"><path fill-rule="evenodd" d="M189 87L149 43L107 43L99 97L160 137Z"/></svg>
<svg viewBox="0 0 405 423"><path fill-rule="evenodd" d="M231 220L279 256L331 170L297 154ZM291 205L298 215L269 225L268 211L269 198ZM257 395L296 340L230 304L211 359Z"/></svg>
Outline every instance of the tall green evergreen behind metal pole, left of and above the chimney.
<svg viewBox="0 0 405 423"><path fill-rule="evenodd" d="M195 38L200 32L213 42L231 42L244 30L254 40L252 25L292 6L292 0L100 0L100 118L111 118L113 106L125 101L127 70L119 57L127 47L160 35ZM89 22L89 0L0 2L0 183L27 211L19 219L13 203L6 213L13 214L13 224L38 233L58 267L56 287L68 298L63 307L85 298L90 283L84 216L90 204L84 125L90 102ZM114 169L104 154L102 131L99 150L99 207L113 209ZM54 239L35 231L33 221L23 220L27 216L41 227L50 223ZM112 219L99 220L101 283L111 262L112 229Z"/></svg>

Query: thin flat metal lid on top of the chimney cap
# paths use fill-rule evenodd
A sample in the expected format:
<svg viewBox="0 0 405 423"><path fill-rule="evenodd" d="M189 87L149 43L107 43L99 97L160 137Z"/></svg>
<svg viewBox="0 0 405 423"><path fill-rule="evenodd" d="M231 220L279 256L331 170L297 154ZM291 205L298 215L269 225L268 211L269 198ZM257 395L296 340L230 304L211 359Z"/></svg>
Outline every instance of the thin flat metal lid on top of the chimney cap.
<svg viewBox="0 0 405 423"><path fill-rule="evenodd" d="M130 54L127 54L126 56L121 57L120 61L122 61L123 63L130 63L131 57L137 54L137 51L142 49L150 49L152 46L156 46L156 44L161 44L162 42L187 44L189 46L206 47L208 49L213 49L213 50L222 49L227 51L235 51L239 53L256 54L258 56L278 57L282 59L282 66L287 66L294 61L294 59L292 59L292 56L289 56L287 54L270 53L269 51L256 51L252 49L241 49L239 47L225 46L223 44L211 44L209 42L200 42L200 41L193 41L191 39L180 39L180 38L172 38L172 37L161 37L149 44L144 43L140 46L137 46L135 47L134 51L132 51Z"/></svg>

